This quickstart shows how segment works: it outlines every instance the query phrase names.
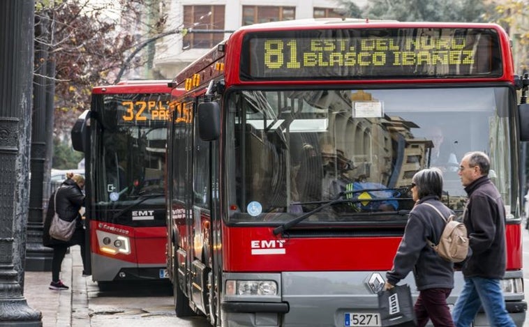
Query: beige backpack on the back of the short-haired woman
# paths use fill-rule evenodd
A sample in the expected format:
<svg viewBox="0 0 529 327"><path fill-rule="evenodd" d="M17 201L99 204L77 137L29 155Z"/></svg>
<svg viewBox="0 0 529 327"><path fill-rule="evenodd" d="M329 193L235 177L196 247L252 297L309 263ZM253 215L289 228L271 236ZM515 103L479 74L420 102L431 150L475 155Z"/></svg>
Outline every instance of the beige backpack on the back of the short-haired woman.
<svg viewBox="0 0 529 327"><path fill-rule="evenodd" d="M449 215L448 218L445 218L438 208L426 202L424 204L434 208L442 220L446 222L439 243L435 245L432 241L426 240L428 244L440 257L447 261L461 262L466 259L468 254L468 236L465 224L458 222L455 215Z"/></svg>

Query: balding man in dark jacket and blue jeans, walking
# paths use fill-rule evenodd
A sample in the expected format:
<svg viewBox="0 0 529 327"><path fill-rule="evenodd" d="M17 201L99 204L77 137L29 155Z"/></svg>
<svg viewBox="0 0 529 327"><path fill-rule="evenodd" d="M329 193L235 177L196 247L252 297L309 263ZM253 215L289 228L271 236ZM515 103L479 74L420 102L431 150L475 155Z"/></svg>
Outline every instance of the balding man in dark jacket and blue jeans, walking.
<svg viewBox="0 0 529 327"><path fill-rule="evenodd" d="M471 326L483 307L491 326L515 326L505 310L500 285L507 262L505 206L489 175L491 161L483 152L466 153L459 165L461 183L468 194L463 222L472 255L463 264L465 285L452 316L459 327Z"/></svg>

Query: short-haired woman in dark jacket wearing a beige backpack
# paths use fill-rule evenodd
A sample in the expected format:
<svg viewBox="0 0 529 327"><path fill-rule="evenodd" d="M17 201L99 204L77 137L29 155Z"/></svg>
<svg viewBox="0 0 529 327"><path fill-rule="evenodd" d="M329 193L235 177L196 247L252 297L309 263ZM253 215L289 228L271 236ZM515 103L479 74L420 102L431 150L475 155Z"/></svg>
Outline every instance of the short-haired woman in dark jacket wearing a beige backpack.
<svg viewBox="0 0 529 327"><path fill-rule="evenodd" d="M392 289L413 271L419 290L414 306L417 326L425 326L429 319L433 326L454 326L447 305L447 298L454 288L454 263L442 259L429 244L429 241L438 244L445 229L446 222L437 211L445 218L454 214L440 201L440 169L429 168L417 172L412 178L411 192L415 206L410 211L393 268L386 274L384 289Z"/></svg>

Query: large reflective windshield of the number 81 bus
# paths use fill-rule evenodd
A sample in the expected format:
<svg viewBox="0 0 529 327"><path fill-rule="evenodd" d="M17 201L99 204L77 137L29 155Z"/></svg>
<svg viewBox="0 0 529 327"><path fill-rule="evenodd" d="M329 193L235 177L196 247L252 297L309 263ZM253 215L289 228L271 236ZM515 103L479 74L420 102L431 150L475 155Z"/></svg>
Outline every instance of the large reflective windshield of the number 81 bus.
<svg viewBox="0 0 529 327"><path fill-rule="evenodd" d="M512 102L505 87L230 93L228 219L284 222L334 199L306 221L405 219L412 176L426 167L443 172L442 201L461 213L468 151L493 158L489 176L513 204Z"/></svg>

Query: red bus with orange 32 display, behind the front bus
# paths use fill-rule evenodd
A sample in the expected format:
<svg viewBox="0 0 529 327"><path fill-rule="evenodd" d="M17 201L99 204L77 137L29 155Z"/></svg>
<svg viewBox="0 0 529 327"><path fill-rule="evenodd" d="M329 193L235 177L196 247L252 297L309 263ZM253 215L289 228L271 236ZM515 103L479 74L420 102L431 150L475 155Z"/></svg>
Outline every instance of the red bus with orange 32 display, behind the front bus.
<svg viewBox="0 0 529 327"><path fill-rule="evenodd" d="M87 268L100 286L167 278L167 82L94 87L72 130L74 149L84 152Z"/></svg>

